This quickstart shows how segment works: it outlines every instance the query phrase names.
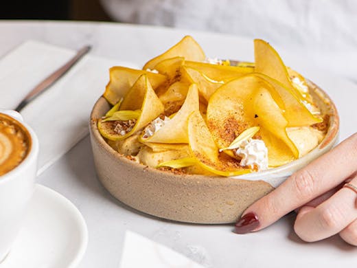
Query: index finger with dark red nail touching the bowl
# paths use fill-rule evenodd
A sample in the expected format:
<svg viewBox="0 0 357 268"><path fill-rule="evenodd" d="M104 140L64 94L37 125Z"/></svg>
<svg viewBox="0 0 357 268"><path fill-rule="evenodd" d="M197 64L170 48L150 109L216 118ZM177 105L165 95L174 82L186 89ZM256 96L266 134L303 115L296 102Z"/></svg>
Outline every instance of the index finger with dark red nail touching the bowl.
<svg viewBox="0 0 357 268"><path fill-rule="evenodd" d="M335 188L357 170L357 133L295 172L284 183L245 210L235 231L263 229L288 212Z"/></svg>

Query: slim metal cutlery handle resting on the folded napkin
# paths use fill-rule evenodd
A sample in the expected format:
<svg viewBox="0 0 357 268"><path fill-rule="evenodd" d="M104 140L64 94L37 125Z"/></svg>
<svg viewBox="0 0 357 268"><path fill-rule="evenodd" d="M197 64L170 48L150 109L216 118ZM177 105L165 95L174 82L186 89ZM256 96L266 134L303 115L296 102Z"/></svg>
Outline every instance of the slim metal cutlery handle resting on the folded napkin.
<svg viewBox="0 0 357 268"><path fill-rule="evenodd" d="M32 91L30 91L30 93L28 93L25 96L25 98L23 98L23 100L14 110L18 112L21 111L21 109L23 109L23 107L25 107L34 98L36 98L38 95L43 93L46 89L51 87L51 85L54 85L54 83L57 80L59 80L64 74L66 74L67 71L71 69L71 67L73 67L73 65L75 65L78 62L78 60L80 60L80 58L82 58L85 54L89 52L89 50L91 50L90 45L86 45L82 47L80 50L78 50L77 54L73 56L73 58L71 58L67 63L65 63L65 65L62 65L62 67L54 71L52 74L47 76L45 80L43 80L38 85L36 85L36 87L34 87L34 89L32 89Z"/></svg>

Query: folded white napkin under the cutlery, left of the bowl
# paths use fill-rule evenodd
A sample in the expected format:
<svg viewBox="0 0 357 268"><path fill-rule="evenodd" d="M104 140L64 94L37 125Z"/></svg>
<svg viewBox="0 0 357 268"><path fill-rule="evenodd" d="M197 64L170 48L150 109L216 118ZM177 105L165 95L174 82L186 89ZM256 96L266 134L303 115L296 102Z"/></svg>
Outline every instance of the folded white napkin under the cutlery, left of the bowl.
<svg viewBox="0 0 357 268"><path fill-rule="evenodd" d="M0 108L14 109L74 54L71 49L37 41L27 41L6 54L0 59ZM91 108L104 92L113 65L134 67L89 54L21 111L40 142L38 174L88 134Z"/></svg>

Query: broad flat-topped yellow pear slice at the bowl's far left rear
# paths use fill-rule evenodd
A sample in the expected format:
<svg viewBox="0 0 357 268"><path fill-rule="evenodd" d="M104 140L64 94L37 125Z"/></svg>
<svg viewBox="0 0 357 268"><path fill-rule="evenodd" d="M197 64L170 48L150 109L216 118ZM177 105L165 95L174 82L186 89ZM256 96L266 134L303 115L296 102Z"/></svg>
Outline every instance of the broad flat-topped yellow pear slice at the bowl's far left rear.
<svg viewBox="0 0 357 268"><path fill-rule="evenodd" d="M110 104L116 104L125 96L142 74L148 76L150 84L154 89L157 89L157 87L167 82L166 76L163 74L154 74L151 71L142 71L120 66L111 67L111 69L109 69L110 80L108 85L106 85L103 94L104 98L106 98Z"/></svg>

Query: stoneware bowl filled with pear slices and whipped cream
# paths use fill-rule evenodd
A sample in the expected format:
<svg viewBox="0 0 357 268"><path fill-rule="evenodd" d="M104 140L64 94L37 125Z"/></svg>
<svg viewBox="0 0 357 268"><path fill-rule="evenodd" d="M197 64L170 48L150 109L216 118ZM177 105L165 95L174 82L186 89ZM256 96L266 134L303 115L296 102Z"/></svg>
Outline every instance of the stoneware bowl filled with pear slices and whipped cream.
<svg viewBox="0 0 357 268"><path fill-rule="evenodd" d="M161 218L233 223L338 136L332 100L262 40L255 63L231 66L185 36L142 70L110 76L91 113L97 175Z"/></svg>

